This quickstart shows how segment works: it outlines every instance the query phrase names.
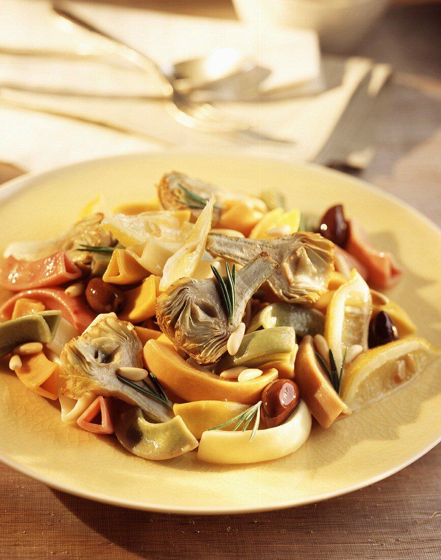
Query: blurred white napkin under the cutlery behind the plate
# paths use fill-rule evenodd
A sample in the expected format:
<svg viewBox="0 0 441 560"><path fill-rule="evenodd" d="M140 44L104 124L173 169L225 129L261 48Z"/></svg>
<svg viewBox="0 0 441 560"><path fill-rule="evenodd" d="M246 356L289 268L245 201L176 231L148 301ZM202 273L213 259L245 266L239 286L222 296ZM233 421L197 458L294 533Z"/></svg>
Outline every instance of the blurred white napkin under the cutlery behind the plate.
<svg viewBox="0 0 441 560"><path fill-rule="evenodd" d="M3 102L0 123L8 124L2 125L0 159L29 170L40 170L104 153L176 147L240 150L290 161L318 158L327 165L351 160L360 167L367 165L372 156L372 150L363 151L363 146L372 140L372 133L369 136L368 127L363 124L369 121L374 99L387 79L388 68L381 67L383 71L378 72L377 66L367 59L325 58L322 60L322 76L327 87L318 95L302 96L302 92L311 89L312 85L315 87L320 78L317 43L310 32L265 31L262 36L237 22L91 4L82 4L78 13L148 53L163 66L208 54L221 46L234 46L243 54L251 54L258 63L272 70L264 82L265 94L294 86L297 96L271 102L235 102L220 107L226 114L255 124L261 136L283 138L287 142L267 141L250 134L195 132L177 123L157 101L65 97L3 87L0 88L0 101ZM64 26L68 23L59 21ZM100 41L94 41L85 31L74 29L67 32L54 26L54 17L46 2L3 0L0 5L0 49L44 48L67 53L80 49L100 53ZM155 91L154 80L125 63L115 69L102 64L102 60L35 60L0 54L0 82L3 85L75 87L79 92L130 95ZM107 57L104 62L109 60ZM350 104L354 92L357 95ZM348 105L352 107L352 118L349 122L346 119L343 128L347 142L342 139L331 142L341 138L339 122L345 122L341 117ZM30 113L22 108L68 114L79 120L72 122ZM112 129L91 127L84 121L98 122ZM28 131L26 137L17 132L24 128ZM116 132L117 129L129 132L130 136ZM363 130L364 136L357 138L358 130ZM43 146L44 155L41 155ZM357 157L354 157L353 146Z"/></svg>

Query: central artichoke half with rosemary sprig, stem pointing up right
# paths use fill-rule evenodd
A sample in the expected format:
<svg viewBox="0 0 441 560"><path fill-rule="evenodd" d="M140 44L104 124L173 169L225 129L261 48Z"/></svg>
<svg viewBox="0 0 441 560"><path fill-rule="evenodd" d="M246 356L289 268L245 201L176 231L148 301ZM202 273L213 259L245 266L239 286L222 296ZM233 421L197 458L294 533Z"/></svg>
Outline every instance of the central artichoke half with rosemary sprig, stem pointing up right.
<svg viewBox="0 0 441 560"><path fill-rule="evenodd" d="M277 267L267 253L260 253L238 270L231 323L217 281L181 278L157 299L158 325L198 363L214 363L226 351L229 335L241 322L247 301Z"/></svg>

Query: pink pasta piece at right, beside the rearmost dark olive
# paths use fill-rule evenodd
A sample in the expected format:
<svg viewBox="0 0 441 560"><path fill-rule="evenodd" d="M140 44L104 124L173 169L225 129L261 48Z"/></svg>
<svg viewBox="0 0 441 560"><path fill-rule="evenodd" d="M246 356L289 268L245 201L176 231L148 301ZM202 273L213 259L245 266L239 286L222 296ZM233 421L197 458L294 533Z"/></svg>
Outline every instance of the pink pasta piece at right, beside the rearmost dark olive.
<svg viewBox="0 0 441 560"><path fill-rule="evenodd" d="M368 270L368 282L378 288L390 288L402 274L394 256L388 251L377 251L356 220L348 220L349 235L346 251L355 256Z"/></svg>

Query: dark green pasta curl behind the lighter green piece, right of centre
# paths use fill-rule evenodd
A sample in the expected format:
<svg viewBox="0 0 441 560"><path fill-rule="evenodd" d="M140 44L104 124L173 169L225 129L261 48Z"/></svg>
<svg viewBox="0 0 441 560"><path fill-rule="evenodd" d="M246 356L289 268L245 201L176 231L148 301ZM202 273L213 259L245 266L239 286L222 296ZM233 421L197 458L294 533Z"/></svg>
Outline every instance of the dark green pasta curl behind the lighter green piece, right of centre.
<svg viewBox="0 0 441 560"><path fill-rule="evenodd" d="M298 337L305 337L307 334L315 336L325 332L325 315L313 307L280 301L259 311L252 318L247 332L252 333L260 328L270 329L273 326L292 326Z"/></svg>

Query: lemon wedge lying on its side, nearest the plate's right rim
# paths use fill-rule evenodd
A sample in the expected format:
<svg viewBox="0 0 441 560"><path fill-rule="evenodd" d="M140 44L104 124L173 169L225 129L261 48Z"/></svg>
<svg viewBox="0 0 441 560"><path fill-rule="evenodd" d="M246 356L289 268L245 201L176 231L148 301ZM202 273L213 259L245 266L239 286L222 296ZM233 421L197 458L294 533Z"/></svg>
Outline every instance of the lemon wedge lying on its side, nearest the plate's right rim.
<svg viewBox="0 0 441 560"><path fill-rule="evenodd" d="M351 409L375 402L439 358L441 348L418 337L372 348L356 357L344 372L341 398Z"/></svg>

